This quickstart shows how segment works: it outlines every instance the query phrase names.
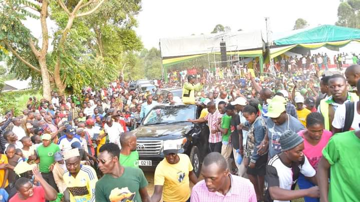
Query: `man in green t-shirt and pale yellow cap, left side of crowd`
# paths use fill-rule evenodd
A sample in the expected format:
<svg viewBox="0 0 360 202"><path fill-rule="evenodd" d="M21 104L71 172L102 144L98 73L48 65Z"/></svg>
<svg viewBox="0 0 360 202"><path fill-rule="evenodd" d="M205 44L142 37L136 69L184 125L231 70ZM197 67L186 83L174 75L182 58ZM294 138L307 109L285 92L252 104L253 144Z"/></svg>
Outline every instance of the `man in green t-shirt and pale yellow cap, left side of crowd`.
<svg viewBox="0 0 360 202"><path fill-rule="evenodd" d="M60 151L60 148L57 144L51 142L51 135L50 134L43 134L41 136L43 144L40 145L37 150L37 157L40 160L39 169L41 175L55 190L58 190L58 187L55 183L55 179L53 176L53 169L55 164L55 157L54 154L57 151Z"/></svg>

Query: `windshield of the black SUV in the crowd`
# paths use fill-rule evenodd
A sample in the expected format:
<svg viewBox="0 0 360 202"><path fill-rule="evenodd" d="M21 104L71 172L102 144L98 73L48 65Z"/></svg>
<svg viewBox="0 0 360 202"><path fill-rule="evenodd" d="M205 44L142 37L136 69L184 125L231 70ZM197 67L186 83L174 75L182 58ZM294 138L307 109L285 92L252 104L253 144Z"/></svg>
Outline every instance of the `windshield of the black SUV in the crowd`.
<svg viewBox="0 0 360 202"><path fill-rule="evenodd" d="M195 118L194 105L175 105L152 109L145 117L144 125L182 122Z"/></svg>

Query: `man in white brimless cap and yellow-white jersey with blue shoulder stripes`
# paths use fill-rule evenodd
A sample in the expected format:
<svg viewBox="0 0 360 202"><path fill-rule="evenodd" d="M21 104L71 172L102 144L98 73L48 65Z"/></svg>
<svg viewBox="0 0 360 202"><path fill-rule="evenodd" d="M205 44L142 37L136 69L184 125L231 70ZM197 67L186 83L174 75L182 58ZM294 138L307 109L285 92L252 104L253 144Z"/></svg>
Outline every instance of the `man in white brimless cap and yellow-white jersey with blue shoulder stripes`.
<svg viewBox="0 0 360 202"><path fill-rule="evenodd" d="M77 148L64 152L66 170L63 179L70 192L70 201L95 201L95 184L98 177L94 168L80 164Z"/></svg>

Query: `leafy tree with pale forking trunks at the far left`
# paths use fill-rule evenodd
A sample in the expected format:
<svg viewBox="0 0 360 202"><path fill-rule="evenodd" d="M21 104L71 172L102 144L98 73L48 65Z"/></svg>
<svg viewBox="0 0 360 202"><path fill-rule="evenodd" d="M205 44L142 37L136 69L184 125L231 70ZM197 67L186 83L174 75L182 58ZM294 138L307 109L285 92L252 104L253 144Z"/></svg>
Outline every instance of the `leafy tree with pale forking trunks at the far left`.
<svg viewBox="0 0 360 202"><path fill-rule="evenodd" d="M42 0L32 2L30 0L1 1L0 24L2 30L0 32L0 46L4 46L15 57L13 62L19 61L23 64L20 67L24 70L31 70L32 74L40 74L43 87L43 96L51 99L51 82L55 82L56 86L62 94L65 90L64 81L60 77L62 66L61 54L68 43L67 38L71 33L72 25L77 18L91 15L105 2L105 0L89 0L89 1L68 1L63 0L49 1ZM70 3L74 6L69 7ZM49 58L49 31L47 19L50 17L49 4L57 4L66 14L64 16L64 29L57 32L57 38L54 47L54 57ZM32 12L29 12L32 10ZM34 13L36 14L34 14ZM30 30L25 27L22 21L27 18L33 18L40 21L42 31L42 44L38 46L38 40L31 34ZM49 66L50 64L53 66ZM53 70L53 71L52 71ZM31 74L28 75L30 77Z"/></svg>

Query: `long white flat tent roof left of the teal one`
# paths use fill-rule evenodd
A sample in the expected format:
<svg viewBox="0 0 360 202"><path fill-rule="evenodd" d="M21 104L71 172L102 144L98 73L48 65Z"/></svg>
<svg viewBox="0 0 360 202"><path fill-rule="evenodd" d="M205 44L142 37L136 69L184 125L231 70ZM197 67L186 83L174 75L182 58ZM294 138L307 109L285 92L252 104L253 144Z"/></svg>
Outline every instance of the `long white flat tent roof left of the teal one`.
<svg viewBox="0 0 360 202"><path fill-rule="evenodd" d="M220 42L226 42L226 51L262 49L261 31L195 35L160 39L161 57L174 58L220 52Z"/></svg>

